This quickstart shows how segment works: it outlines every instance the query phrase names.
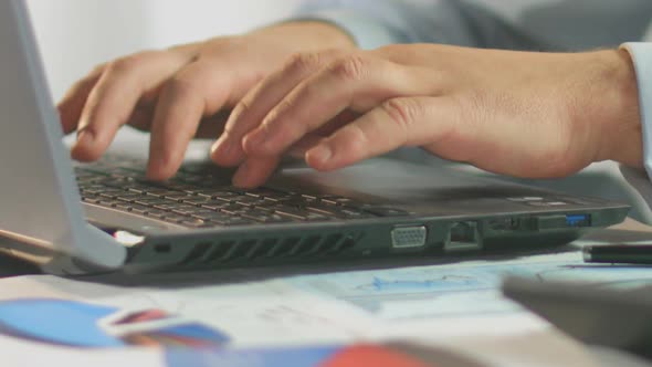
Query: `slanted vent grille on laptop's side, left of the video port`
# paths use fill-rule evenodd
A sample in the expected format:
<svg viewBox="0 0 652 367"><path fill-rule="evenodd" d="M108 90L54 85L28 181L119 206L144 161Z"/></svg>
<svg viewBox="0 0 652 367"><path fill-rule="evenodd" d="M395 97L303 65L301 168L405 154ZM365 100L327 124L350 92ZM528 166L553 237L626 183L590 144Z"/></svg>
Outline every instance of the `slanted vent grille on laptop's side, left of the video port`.
<svg viewBox="0 0 652 367"><path fill-rule="evenodd" d="M270 259L309 259L333 256L355 248L360 235L330 233L261 240L200 242L183 260L189 264L264 262Z"/></svg>

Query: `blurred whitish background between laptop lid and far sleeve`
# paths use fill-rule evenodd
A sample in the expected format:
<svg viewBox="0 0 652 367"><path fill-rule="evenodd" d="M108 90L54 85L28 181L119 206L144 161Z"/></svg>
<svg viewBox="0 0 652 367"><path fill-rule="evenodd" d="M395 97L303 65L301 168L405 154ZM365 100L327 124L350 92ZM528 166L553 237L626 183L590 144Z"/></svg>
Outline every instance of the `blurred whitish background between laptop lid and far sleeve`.
<svg viewBox="0 0 652 367"><path fill-rule="evenodd" d="M299 0L28 0L57 101L93 66L143 49L233 34L292 14Z"/></svg>

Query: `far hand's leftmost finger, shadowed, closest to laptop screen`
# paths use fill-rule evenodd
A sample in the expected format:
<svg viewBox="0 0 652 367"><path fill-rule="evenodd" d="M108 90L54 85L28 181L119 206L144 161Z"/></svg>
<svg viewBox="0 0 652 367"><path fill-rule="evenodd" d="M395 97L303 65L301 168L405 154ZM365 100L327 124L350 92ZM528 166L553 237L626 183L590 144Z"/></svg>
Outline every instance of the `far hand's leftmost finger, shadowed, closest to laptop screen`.
<svg viewBox="0 0 652 367"><path fill-rule="evenodd" d="M95 67L88 75L75 83L56 106L61 118L61 126L65 134L77 128L80 116L97 81L104 73L105 64Z"/></svg>

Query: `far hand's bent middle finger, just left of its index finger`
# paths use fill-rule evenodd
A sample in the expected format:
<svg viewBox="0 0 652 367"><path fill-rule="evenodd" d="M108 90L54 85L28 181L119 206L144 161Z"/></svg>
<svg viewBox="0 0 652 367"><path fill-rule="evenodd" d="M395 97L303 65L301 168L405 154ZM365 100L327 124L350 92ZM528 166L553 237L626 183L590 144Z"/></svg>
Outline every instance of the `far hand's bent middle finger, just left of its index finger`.
<svg viewBox="0 0 652 367"><path fill-rule="evenodd" d="M128 122L140 97L173 75L188 60L188 55L180 53L145 52L107 65L83 108L73 157L87 161L102 156L117 129Z"/></svg>

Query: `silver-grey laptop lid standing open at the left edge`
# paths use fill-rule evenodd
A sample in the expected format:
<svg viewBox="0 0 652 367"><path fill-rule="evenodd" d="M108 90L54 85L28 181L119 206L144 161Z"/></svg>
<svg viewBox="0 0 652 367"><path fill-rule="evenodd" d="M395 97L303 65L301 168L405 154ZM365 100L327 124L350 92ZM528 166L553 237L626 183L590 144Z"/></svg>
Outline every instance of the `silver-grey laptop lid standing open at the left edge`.
<svg viewBox="0 0 652 367"><path fill-rule="evenodd" d="M24 0L0 1L0 250L122 265L126 250L84 219Z"/></svg>

